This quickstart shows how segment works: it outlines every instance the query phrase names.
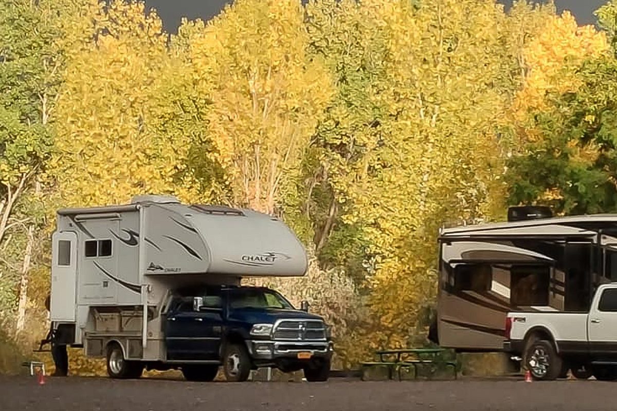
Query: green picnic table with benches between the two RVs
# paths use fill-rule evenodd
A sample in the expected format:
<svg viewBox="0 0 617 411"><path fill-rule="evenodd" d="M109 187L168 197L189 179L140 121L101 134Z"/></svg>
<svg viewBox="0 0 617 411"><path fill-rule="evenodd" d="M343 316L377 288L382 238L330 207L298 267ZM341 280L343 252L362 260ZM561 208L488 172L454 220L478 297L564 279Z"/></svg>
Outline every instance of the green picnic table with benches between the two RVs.
<svg viewBox="0 0 617 411"><path fill-rule="evenodd" d="M376 351L375 354L379 356L379 361L376 362L363 362L362 363L362 375L361 379L364 381L364 375L366 368L371 367L387 367L388 379L392 380L394 370L397 370L399 381L401 378L401 370L404 368L413 367L413 377L418 378L418 365L431 364L438 365L443 364L446 367L452 367L454 379L457 379L457 363L455 361L443 360L441 354L445 350L442 348L405 348L405 349L384 349ZM385 356L394 356L395 359L391 361L384 360ZM412 359L404 358L404 356L413 356Z"/></svg>

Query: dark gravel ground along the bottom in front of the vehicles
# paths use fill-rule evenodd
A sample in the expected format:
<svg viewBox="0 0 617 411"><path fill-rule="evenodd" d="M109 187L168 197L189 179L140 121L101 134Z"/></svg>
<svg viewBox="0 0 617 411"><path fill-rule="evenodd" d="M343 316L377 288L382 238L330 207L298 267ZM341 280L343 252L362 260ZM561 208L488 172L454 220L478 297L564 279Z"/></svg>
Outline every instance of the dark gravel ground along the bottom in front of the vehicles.
<svg viewBox="0 0 617 411"><path fill-rule="evenodd" d="M189 383L0 376L0 410L612 410L617 383L520 379L458 381L331 380L328 383Z"/></svg>

